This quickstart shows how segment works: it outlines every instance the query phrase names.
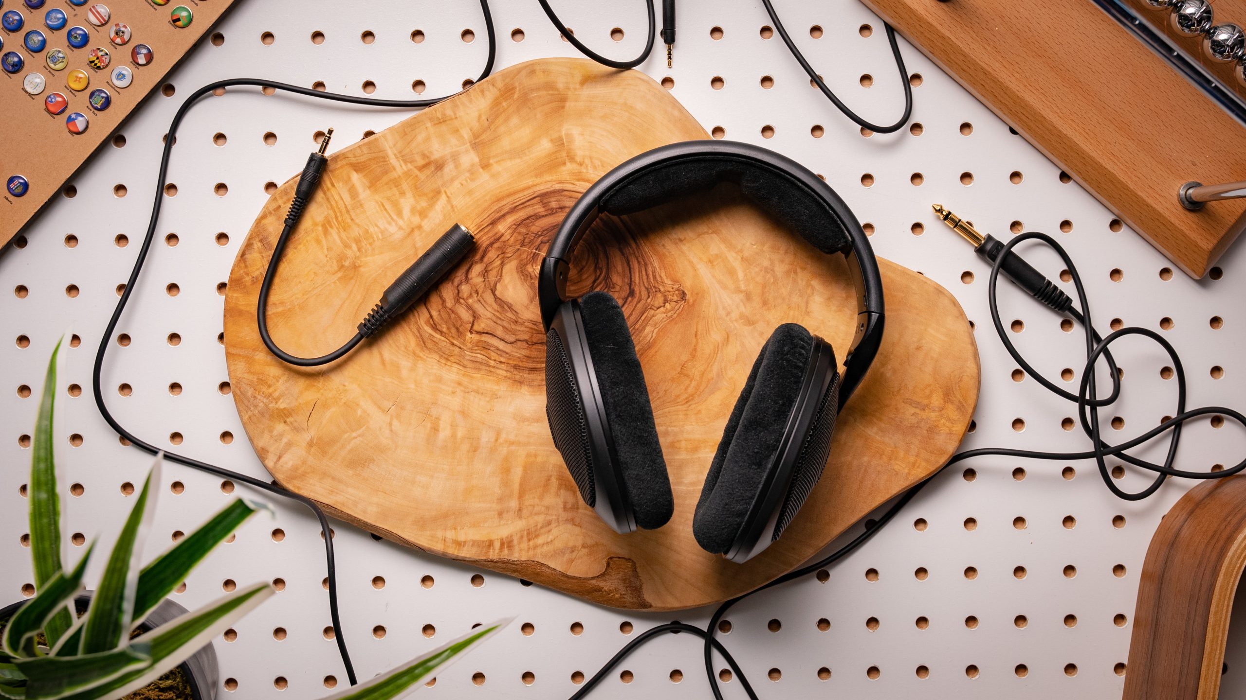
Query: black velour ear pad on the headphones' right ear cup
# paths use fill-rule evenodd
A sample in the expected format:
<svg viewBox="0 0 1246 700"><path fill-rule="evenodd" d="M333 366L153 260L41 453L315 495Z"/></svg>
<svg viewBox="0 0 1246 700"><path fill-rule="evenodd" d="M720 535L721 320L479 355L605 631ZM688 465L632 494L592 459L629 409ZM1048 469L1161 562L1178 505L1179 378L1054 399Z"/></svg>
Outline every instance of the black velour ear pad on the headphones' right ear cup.
<svg viewBox="0 0 1246 700"><path fill-rule="evenodd" d="M706 552L725 554L761 490L809 370L814 336L804 326L775 329L753 364L705 475L693 534Z"/></svg>

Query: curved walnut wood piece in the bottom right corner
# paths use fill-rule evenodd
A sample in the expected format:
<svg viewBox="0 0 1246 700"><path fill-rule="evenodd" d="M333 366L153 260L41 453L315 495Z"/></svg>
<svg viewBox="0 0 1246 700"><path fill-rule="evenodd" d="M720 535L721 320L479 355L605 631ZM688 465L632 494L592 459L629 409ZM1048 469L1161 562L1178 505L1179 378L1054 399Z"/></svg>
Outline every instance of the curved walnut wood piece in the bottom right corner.
<svg viewBox="0 0 1246 700"><path fill-rule="evenodd" d="M1164 516L1146 549L1125 700L1215 700L1234 595L1246 568L1246 478L1205 482Z"/></svg>

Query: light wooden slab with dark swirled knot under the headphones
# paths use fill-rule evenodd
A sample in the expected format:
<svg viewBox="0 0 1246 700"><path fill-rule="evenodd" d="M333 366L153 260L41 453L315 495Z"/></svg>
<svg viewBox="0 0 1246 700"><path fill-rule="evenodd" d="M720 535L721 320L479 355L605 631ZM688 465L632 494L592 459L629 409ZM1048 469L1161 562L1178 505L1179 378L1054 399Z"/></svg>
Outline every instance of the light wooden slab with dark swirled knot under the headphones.
<svg viewBox="0 0 1246 700"><path fill-rule="evenodd" d="M389 539L659 610L780 575L936 471L977 402L977 348L951 294L881 260L886 338L809 503L746 564L697 546L693 506L765 339L800 321L842 354L856 319L842 259L724 187L598 222L577 252L572 291L611 290L633 329L675 513L660 529L618 536L581 502L545 416L537 265L597 177L704 137L645 75L559 59L501 71L333 153L273 283L269 323L285 350L321 354L345 340L452 223L477 248L426 304L312 370L275 360L255 330L259 281L293 196L287 182L239 250L226 295L233 396L260 460L284 486Z"/></svg>

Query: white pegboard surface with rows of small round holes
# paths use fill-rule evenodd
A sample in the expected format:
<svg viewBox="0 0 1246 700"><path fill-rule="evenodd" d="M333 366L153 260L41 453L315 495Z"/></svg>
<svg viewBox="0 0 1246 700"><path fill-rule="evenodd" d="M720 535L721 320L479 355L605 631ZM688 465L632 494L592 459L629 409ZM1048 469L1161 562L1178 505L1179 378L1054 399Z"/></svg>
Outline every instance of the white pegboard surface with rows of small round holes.
<svg viewBox="0 0 1246 700"><path fill-rule="evenodd" d="M115 2L118 19L125 4ZM556 5L577 36L612 56L635 55L643 45L639 1ZM902 105L900 76L876 16L852 0L778 5L832 88L866 117L895 118ZM983 386L966 448L1072 451L1085 448L1085 441L1079 431L1062 427L1073 416L1072 405L1030 379L1012 379L1014 364L989 328L987 269L937 223L932 202L996 235L1006 237L1013 222L1057 235L1080 265L1099 328L1116 318L1158 330L1170 326L1161 333L1182 355L1190 405L1241 401L1246 326L1234 309L1246 294L1246 248L1229 252L1215 280L1165 273L1172 267L1168 260L1128 229L1114 230L1119 223L1103 206L1064 182L1058 168L903 41L908 72L921 76L913 77L912 117L921 127L865 137L810 87L778 37L764 39L769 20L759 2L680 0L679 12L674 67L668 70L657 50L644 70L669 78L664 82L672 93L706 130L775 148L824 174L872 227L880 255L943 284L977 321ZM498 67L574 55L535 0L497 0L493 16ZM814 25L821 27L817 39L810 34ZM612 41L614 27L622 27L622 41ZM475 32L472 42L464 40L465 29ZM421 42L412 41L415 30L424 32ZM321 32L323 41L314 42L313 32ZM20 247L0 255L0 335L9 339L0 344L0 557L6 562L0 603L20 599L32 578L29 549L21 544L26 502L20 486L30 458L21 436L31 431L45 361L66 329L81 338L80 346L64 351L57 395L67 531L86 539L100 534L101 544L111 546L130 504L123 485L138 483L151 462L120 445L96 414L91 361L116 288L137 253L161 138L181 98L203 83L238 76L323 82L330 91L355 93L370 81L374 96L392 98L410 98L415 81L422 81L425 96L444 95L476 77L485 49L480 9L471 0L358 9L329 0L242 0L218 36L171 76L166 93L172 97L157 95L138 110L122 130L125 146L105 147L72 182L75 196L56 201ZM868 87L865 75L872 76ZM147 269L118 328L131 343L113 345L105 369L107 400L122 423L169 448L171 436L179 433L176 450L268 478L223 394L218 285L267 198L265 187L299 171L316 131L336 127L334 146L343 147L406 116L242 88L207 98L189 113L169 167L177 194L166 198ZM265 135L275 142L268 144ZM218 183L227 187L223 196ZM1060 233L1062 223L1072 224L1068 233ZM169 234L176 245L167 243ZM127 247L117 245L118 235L128 238ZM1049 274L1060 268L1048 252L1027 255ZM177 295L168 293L169 284L178 285ZM66 291L70 285L75 296ZM1009 285L1002 285L1001 305L1006 320L1023 321L1013 338L1039 370L1048 376L1064 367L1080 372L1080 335L1063 333L1055 316ZM1212 324L1212 316L1221 323ZM179 335L176 346L168 341L172 333ZM1109 432L1124 440L1175 411L1175 386L1161 379L1166 360L1158 346L1125 341L1118 348L1124 400L1104 419L1123 419L1123 430ZM1221 367L1221 379L1212 379L1212 367ZM173 382L179 389L171 391ZM128 396L120 395L122 384ZM20 387L30 387L31 395ZM1231 426L1195 422L1185 435L1180 463L1186 468L1231 465L1246 450ZM1160 450L1149 453L1155 457ZM964 467L976 478L966 478ZM1134 473L1124 480L1126 487L1144 481ZM1099 482L1093 462L988 458L962 465L939 476L825 582L811 577L736 605L721 639L763 698L1116 698L1146 544L1187 486L1169 482L1155 498L1126 503ZM227 498L219 480L169 466L148 554L166 547L174 531L194 528ZM412 494L412 507L417 503ZM274 506L275 519L242 528L177 594L182 604L196 607L219 595L227 580L282 579L278 595L214 643L224 698L315 698L328 693L330 676L339 686L345 683L335 645L324 638L329 613L315 521L299 507ZM622 630L637 634L670 619L704 624L710 613L599 608L375 542L341 523L335 541L341 615L360 678L472 623L518 615L501 636L442 674L425 691L429 698L567 696L582 678L577 674L591 675L629 639ZM969 567L976 573L967 574ZM1237 607L1230 630L1225 698L1246 693L1244 610ZM729 698L743 696L738 685L725 684ZM627 659L593 696L706 693L700 644L678 635Z"/></svg>

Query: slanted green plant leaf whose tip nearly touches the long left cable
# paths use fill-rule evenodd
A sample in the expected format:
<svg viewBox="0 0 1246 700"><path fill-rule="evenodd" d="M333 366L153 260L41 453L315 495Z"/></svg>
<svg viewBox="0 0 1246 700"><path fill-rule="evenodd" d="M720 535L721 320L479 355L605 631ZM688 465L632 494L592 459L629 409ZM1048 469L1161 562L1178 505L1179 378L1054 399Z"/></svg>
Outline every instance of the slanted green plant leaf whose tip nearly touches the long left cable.
<svg viewBox="0 0 1246 700"><path fill-rule="evenodd" d="M142 624L161 600L186 580L191 569L202 562L217 544L238 529L238 526L260 509L268 511L270 514L273 512L267 503L234 498L208 522L147 564L138 574L138 590L135 594L135 614L131 628Z"/></svg>

